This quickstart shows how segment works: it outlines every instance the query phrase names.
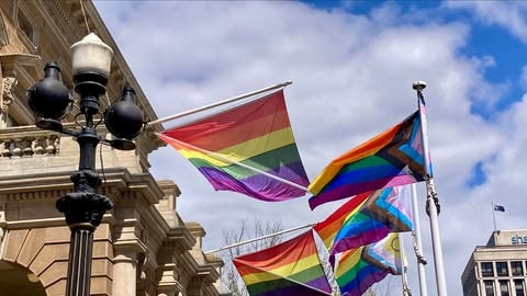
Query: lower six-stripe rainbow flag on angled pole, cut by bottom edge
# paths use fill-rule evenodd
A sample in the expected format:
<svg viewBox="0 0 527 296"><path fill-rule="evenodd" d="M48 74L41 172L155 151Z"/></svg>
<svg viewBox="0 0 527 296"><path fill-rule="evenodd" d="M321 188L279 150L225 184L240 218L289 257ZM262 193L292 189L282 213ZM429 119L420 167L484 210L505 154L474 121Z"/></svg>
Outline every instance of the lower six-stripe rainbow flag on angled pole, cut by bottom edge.
<svg viewBox="0 0 527 296"><path fill-rule="evenodd" d="M313 231L233 259L250 296L332 295Z"/></svg>

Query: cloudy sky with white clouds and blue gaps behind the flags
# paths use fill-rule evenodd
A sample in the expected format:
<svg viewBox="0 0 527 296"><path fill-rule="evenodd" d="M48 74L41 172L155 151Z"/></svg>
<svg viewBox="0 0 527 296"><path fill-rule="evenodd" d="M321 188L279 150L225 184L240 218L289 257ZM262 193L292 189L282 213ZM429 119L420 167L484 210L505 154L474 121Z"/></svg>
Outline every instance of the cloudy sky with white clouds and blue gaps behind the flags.
<svg viewBox="0 0 527 296"><path fill-rule="evenodd" d="M527 228L522 152L527 2L100 0L96 5L159 117L292 80L285 101L312 180L333 158L410 115L416 109L412 82L426 81L450 295L461 295L470 253L491 236L491 203L506 209L496 213L498 228ZM205 250L222 247L222 229L242 219L278 219L292 228L322 220L339 205L311 212L307 195L264 203L214 192L169 147L155 151L150 162L156 178L180 186L177 209L205 227ZM435 295L424 184L418 192L428 289ZM408 258L411 288L418 293L415 258Z"/></svg>

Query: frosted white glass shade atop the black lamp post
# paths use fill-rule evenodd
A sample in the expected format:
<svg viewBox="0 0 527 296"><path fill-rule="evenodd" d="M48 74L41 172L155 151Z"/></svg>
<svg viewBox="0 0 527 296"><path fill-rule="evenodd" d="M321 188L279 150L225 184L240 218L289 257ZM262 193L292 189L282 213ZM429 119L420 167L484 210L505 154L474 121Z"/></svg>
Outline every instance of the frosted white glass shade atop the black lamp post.
<svg viewBox="0 0 527 296"><path fill-rule="evenodd" d="M110 76L113 50L96 34L90 33L81 41L71 45L72 73L97 72L104 77Z"/></svg>

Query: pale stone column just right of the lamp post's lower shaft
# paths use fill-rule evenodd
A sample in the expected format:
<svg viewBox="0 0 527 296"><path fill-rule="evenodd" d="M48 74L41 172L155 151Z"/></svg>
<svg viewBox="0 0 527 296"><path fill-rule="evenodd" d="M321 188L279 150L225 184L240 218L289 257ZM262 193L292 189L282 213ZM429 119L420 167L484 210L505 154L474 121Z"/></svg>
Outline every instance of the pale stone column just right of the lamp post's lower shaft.
<svg viewBox="0 0 527 296"><path fill-rule="evenodd" d="M137 248L115 246L113 258L113 296L135 296Z"/></svg>

